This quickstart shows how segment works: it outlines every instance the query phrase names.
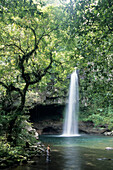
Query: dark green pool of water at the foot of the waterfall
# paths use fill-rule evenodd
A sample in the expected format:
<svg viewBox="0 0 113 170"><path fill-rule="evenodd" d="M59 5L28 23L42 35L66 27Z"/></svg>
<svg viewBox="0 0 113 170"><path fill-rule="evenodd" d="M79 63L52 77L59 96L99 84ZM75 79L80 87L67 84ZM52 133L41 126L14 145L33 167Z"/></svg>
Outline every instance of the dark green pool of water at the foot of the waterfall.
<svg viewBox="0 0 113 170"><path fill-rule="evenodd" d="M36 165L19 166L13 170L113 170L113 137L88 136L60 137L40 136L51 146L51 161L46 156L37 158Z"/></svg>

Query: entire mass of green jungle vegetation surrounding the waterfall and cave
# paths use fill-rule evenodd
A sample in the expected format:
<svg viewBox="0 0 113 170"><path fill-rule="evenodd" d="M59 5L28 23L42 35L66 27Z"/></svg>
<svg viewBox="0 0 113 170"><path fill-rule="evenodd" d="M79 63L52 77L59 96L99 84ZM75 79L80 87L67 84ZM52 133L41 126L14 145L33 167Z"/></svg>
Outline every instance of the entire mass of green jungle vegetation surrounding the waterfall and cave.
<svg viewBox="0 0 113 170"><path fill-rule="evenodd" d="M67 77L75 67L80 120L112 129L113 2L1 0L0 8L2 152L6 143L14 147L34 142L24 128L25 123L31 126L27 100L31 93L45 103L46 98L65 97Z"/></svg>

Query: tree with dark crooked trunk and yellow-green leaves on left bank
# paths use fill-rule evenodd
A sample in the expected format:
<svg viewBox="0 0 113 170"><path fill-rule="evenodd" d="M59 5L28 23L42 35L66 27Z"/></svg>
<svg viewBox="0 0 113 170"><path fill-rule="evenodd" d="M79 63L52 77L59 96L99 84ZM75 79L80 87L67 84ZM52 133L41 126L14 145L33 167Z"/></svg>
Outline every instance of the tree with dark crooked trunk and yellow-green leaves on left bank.
<svg viewBox="0 0 113 170"><path fill-rule="evenodd" d="M29 11L34 5L29 5L26 1L24 8L19 12L21 3L22 1L12 1L18 13L15 13L7 2L3 1L2 6L0 85L4 96L2 112L6 115L10 112L9 141L12 141L12 131L18 117L23 114L29 87L39 83L46 74L51 74L49 70L52 71L55 65L61 65L56 57L56 49L58 50L61 43L57 38L60 22L54 15L56 11L51 6L43 10L40 7L38 14L37 10L32 14ZM5 7L8 8L8 12ZM29 11L25 15L27 7ZM56 10L58 14L58 8ZM15 103L15 96L18 104Z"/></svg>

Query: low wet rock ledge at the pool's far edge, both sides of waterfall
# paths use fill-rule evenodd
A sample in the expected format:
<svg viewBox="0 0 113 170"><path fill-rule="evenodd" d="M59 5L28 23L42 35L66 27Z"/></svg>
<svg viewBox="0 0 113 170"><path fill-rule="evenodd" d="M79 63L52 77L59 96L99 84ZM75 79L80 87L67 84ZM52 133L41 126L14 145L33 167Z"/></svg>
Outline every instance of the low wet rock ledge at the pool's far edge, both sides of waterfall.
<svg viewBox="0 0 113 170"><path fill-rule="evenodd" d="M63 132L63 123L60 121L46 120L34 123L34 128L41 134L59 134ZM79 133L84 134L103 134L107 131L107 127L94 127L92 122L79 122Z"/></svg>

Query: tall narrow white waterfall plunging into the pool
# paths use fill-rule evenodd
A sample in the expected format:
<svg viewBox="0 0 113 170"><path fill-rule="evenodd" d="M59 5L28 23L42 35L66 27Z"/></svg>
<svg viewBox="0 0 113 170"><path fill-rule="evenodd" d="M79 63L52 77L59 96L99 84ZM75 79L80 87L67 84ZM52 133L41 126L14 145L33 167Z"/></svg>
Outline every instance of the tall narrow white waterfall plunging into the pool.
<svg viewBox="0 0 113 170"><path fill-rule="evenodd" d="M69 98L66 106L63 136L79 136L78 134L79 112L79 86L77 70L71 74Z"/></svg>

